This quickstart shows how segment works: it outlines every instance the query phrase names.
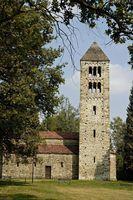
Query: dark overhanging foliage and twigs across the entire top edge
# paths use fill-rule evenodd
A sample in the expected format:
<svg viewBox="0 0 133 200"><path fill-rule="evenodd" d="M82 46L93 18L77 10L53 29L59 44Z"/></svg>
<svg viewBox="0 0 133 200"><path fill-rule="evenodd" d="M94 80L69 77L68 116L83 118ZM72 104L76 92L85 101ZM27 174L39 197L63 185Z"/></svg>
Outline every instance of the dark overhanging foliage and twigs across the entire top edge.
<svg viewBox="0 0 133 200"><path fill-rule="evenodd" d="M49 4L48 7L46 7L46 3ZM27 5L26 10L23 10L24 5ZM78 8L77 13L75 13L75 8ZM14 19L16 15L30 13L33 10L41 13L43 17L52 17L61 38L65 34L66 38L69 39L68 35L61 29L60 23L66 24L70 30L73 30L71 29L71 19L76 17L79 21L87 23L90 28L94 28L99 19L103 19L107 25L105 33L115 43L133 39L132 0L1 0L0 24ZM71 43L71 41L69 42Z"/></svg>

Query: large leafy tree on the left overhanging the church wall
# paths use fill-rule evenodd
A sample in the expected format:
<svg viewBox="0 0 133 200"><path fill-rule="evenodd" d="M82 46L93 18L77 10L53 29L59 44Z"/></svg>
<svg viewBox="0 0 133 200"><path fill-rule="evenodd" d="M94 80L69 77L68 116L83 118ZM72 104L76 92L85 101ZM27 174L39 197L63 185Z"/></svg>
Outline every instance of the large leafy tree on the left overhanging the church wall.
<svg viewBox="0 0 133 200"><path fill-rule="evenodd" d="M62 49L48 47L55 39L52 18L24 2L0 3L0 21L8 19L0 23L0 178L3 156L35 155L38 113L54 113L64 81L62 66L53 66Z"/></svg>

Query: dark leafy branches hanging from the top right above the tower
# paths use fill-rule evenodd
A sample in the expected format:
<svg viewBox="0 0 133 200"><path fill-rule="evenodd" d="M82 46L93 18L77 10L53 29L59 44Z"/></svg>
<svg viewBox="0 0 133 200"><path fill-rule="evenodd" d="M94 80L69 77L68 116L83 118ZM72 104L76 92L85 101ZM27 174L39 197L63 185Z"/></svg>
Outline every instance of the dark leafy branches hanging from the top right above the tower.
<svg viewBox="0 0 133 200"><path fill-rule="evenodd" d="M76 16L74 6L79 8L79 19L87 23L90 28L96 26L100 18L105 19L107 24L106 34L116 43L125 42L132 38L132 1L105 1L105 0L53 0L52 10L64 14L64 23L70 24L70 20Z"/></svg>

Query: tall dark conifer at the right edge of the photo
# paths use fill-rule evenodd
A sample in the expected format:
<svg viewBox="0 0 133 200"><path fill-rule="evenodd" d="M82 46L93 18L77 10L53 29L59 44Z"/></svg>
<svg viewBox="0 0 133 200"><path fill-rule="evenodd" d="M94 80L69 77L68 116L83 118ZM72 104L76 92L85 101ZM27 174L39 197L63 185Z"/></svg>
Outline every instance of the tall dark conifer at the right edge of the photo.
<svg viewBox="0 0 133 200"><path fill-rule="evenodd" d="M126 119L126 134L124 137L125 142L125 172L128 180L133 180L133 86L129 97L129 105L127 108L127 119Z"/></svg>

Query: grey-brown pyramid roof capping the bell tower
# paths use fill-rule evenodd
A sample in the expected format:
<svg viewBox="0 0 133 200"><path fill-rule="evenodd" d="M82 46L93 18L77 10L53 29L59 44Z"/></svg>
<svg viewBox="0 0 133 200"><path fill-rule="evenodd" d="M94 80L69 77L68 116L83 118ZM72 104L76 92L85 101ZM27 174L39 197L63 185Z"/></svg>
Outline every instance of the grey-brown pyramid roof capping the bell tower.
<svg viewBox="0 0 133 200"><path fill-rule="evenodd" d="M81 58L82 61L109 61L103 50L96 42L93 42L90 48L86 51Z"/></svg>

